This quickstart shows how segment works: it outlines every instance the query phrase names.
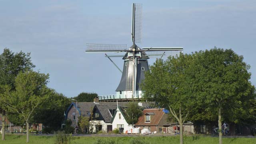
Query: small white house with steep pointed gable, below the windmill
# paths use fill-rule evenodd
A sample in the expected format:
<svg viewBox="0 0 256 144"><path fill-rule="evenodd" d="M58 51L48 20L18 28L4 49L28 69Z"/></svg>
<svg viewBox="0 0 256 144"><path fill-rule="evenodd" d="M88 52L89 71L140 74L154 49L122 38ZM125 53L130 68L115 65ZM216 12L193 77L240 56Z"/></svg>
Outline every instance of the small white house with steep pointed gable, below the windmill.
<svg viewBox="0 0 256 144"><path fill-rule="evenodd" d="M127 123L127 114L124 108L118 106L111 120L112 129L121 128L121 133L125 133L132 126Z"/></svg>

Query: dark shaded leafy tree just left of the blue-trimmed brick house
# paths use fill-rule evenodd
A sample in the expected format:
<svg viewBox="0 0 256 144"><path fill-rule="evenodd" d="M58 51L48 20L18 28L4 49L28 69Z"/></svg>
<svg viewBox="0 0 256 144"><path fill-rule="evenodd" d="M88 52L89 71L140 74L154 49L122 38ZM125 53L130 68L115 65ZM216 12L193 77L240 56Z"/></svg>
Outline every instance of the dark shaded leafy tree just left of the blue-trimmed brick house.
<svg viewBox="0 0 256 144"><path fill-rule="evenodd" d="M64 121L64 111L69 107L71 101L54 89L49 89L49 91L50 97L36 109L32 122L42 123L48 128L58 130Z"/></svg>

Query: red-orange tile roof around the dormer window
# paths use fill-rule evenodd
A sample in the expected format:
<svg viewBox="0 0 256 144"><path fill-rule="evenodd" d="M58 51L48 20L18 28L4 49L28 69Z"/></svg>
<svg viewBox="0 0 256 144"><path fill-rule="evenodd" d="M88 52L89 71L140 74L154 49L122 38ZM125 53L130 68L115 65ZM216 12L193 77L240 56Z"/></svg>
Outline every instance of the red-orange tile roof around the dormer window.
<svg viewBox="0 0 256 144"><path fill-rule="evenodd" d="M146 113L154 113L154 115L150 115L150 122L145 122L145 114ZM143 115L139 117L138 122L135 126L156 126L159 124L160 120L164 115L163 108L160 109L144 109Z"/></svg>

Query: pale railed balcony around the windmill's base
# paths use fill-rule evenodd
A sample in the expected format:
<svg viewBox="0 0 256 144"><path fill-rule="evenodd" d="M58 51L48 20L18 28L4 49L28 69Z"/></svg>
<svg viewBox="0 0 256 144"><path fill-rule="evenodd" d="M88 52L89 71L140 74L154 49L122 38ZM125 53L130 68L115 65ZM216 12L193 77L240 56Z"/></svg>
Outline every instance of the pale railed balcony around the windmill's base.
<svg viewBox="0 0 256 144"><path fill-rule="evenodd" d="M120 94L120 95L99 95L97 97L99 100L140 99L142 98L142 95L141 94L136 94L136 95Z"/></svg>

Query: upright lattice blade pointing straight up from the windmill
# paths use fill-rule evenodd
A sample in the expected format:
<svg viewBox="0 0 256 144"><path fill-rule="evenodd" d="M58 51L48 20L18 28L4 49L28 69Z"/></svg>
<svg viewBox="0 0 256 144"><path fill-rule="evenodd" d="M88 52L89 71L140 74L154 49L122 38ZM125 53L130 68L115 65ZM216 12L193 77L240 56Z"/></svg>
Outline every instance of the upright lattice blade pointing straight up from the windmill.
<svg viewBox="0 0 256 144"><path fill-rule="evenodd" d="M132 4L132 41L142 43L142 4Z"/></svg>

